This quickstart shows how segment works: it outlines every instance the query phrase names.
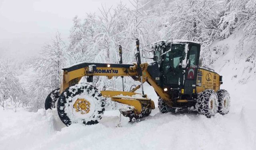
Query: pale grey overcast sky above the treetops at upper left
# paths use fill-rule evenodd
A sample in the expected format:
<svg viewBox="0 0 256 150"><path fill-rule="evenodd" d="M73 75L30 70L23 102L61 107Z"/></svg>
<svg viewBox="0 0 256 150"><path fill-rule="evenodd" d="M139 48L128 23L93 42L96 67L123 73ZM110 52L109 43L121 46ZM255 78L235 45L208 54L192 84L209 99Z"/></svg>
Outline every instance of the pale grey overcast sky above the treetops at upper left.
<svg viewBox="0 0 256 150"><path fill-rule="evenodd" d="M128 0L121 0L130 7ZM27 58L41 50L56 31L67 40L76 15L98 12L120 0L0 0L0 59Z"/></svg>

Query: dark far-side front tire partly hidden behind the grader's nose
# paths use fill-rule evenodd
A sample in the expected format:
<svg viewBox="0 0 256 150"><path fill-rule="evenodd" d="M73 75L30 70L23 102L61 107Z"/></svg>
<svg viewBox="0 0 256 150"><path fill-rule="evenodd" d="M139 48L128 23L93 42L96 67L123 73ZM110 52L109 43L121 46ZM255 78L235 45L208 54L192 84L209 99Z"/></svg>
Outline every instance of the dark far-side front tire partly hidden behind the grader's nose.
<svg viewBox="0 0 256 150"><path fill-rule="evenodd" d="M57 88L50 92L50 94L46 97L46 100L44 102L44 109L52 109L55 108L55 102L60 97L60 88Z"/></svg>

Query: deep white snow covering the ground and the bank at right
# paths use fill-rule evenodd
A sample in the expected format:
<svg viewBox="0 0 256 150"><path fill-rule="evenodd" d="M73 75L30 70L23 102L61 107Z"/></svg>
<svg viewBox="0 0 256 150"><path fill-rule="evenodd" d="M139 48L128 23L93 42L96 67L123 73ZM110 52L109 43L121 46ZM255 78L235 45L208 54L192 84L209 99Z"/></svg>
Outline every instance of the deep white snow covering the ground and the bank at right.
<svg viewBox="0 0 256 150"><path fill-rule="evenodd" d="M120 121L118 111L107 111L100 124L66 127L56 110L0 110L0 150L255 150L255 76L241 82L246 62L234 60L232 43L232 39L215 43L229 47L214 63L224 79L221 88L230 92L230 113L225 116L160 114L155 109L145 120L130 124L128 118ZM154 89L146 85L145 91L157 105Z"/></svg>

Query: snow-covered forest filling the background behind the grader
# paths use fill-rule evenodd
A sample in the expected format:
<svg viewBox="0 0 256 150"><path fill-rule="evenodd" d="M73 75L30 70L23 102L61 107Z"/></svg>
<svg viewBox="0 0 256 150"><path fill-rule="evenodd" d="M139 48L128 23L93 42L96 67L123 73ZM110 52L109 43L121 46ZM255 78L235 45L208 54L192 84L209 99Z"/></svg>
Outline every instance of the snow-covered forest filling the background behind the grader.
<svg viewBox="0 0 256 150"><path fill-rule="evenodd" d="M60 85L62 68L78 62L119 63L119 45L123 48L123 63L135 62L136 38L140 40L143 62L152 61L148 59L152 57L151 43L182 39L200 42L203 66L211 67L228 49L212 44L234 35L239 41L232 51L247 62L243 72L248 73L242 76L247 80L255 77L256 0L131 0L130 3L132 8L122 2L110 8L102 4L99 13L86 14L85 18L74 16L68 42L56 31L37 57L22 63L1 59L0 109L44 108L46 96ZM29 74L29 78L24 79L24 74ZM92 84L99 90L122 88L120 77L94 78ZM139 84L130 78L124 78L124 82L126 90ZM116 107L111 102L108 105Z"/></svg>

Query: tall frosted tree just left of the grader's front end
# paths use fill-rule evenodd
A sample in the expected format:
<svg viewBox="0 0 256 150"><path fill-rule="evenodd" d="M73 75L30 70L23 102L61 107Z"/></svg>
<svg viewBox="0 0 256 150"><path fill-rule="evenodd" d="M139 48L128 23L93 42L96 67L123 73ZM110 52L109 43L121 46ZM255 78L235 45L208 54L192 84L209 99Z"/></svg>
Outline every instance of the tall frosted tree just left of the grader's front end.
<svg viewBox="0 0 256 150"><path fill-rule="evenodd" d="M44 107L46 96L54 89L60 87L61 69L65 66L65 44L60 34L46 44L41 51L41 57L34 66L37 76L29 87L30 108L36 111Z"/></svg>

